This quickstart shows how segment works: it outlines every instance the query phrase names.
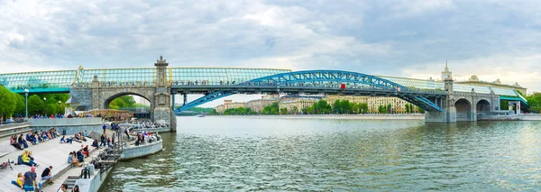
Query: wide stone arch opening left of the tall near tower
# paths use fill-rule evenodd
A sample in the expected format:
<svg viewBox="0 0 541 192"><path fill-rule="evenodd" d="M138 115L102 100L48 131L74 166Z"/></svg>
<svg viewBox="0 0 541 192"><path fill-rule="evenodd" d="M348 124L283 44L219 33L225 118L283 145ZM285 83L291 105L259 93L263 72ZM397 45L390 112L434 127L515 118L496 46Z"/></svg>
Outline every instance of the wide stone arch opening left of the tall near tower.
<svg viewBox="0 0 541 192"><path fill-rule="evenodd" d="M110 109L112 107L112 103L115 99L120 98L121 96L132 96L133 101L136 105L131 105L126 107L124 106L118 106L120 110L127 110L130 112L130 114L133 114L132 117L140 119L140 120L151 120L152 112L153 112L153 101L148 98L148 96L142 96L141 94L133 93L133 92L124 92L124 93L118 93L113 96L108 96L104 101L104 108ZM140 101L142 100L142 101ZM146 101L146 102L144 102ZM146 106L143 106L143 105ZM116 107L115 107L116 108Z"/></svg>

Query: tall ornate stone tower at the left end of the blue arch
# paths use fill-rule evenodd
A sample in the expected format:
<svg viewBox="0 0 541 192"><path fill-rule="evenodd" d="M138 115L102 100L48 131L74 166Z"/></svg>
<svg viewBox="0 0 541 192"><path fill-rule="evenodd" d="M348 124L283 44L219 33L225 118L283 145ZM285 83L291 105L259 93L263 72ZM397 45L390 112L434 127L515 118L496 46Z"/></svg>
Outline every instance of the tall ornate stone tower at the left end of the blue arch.
<svg viewBox="0 0 541 192"><path fill-rule="evenodd" d="M167 66L169 63L160 56L154 63L156 66L156 92L154 94L154 121L157 123L170 123L171 131L176 131L176 117L171 110L171 86L167 78Z"/></svg>

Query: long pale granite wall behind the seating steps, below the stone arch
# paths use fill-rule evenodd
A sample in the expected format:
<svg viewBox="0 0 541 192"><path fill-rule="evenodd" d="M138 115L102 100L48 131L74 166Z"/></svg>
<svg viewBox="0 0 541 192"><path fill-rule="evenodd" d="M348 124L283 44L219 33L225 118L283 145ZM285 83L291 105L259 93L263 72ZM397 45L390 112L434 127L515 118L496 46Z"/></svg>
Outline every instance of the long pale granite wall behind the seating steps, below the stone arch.
<svg viewBox="0 0 541 192"><path fill-rule="evenodd" d="M101 118L29 119L28 122L31 123L31 128L34 131L49 130L54 127L60 134L64 130L66 134L85 132L85 130L87 133L103 132Z"/></svg>

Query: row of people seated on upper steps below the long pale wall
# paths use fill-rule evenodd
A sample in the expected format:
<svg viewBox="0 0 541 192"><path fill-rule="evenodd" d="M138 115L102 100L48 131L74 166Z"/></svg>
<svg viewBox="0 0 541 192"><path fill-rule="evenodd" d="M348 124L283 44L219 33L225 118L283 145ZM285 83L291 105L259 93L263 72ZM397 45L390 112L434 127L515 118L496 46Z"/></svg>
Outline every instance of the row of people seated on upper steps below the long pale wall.
<svg viewBox="0 0 541 192"><path fill-rule="evenodd" d="M38 144L40 142L46 142L48 140L54 139L56 137L60 136L59 133L57 133L55 128L50 129L49 131L36 131L33 132L30 131L24 135L21 133L20 136L17 137L15 134L11 137L9 143L14 146L15 148L19 150L23 150L25 148L28 148L28 142L32 144Z"/></svg>

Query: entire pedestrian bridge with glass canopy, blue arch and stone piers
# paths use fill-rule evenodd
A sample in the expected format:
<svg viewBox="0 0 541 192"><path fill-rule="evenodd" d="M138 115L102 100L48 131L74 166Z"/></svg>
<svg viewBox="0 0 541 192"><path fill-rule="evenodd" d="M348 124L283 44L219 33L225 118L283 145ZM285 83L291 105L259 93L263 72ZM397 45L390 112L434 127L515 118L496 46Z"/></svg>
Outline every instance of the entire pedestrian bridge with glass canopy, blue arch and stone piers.
<svg viewBox="0 0 541 192"><path fill-rule="evenodd" d="M72 103L78 104L78 110L107 108L118 96L142 96L150 101L154 119L158 114L159 119L172 119L166 116L171 114L171 108L176 108L171 104L175 103L177 94L183 95L184 101L174 113L234 94L275 93L396 96L425 109L428 117L430 113L448 113L449 107L455 107L460 114L459 121L474 121L474 111L479 108L484 114L499 111L500 100L527 105L527 100L513 89L453 84L452 78L444 82L342 70L175 68L169 67L161 57L154 65L154 68L137 69L79 67L0 74L0 85L20 94L25 90L30 94L69 93ZM188 103L188 94L205 96ZM437 116L434 118L441 117Z"/></svg>

